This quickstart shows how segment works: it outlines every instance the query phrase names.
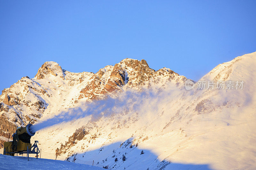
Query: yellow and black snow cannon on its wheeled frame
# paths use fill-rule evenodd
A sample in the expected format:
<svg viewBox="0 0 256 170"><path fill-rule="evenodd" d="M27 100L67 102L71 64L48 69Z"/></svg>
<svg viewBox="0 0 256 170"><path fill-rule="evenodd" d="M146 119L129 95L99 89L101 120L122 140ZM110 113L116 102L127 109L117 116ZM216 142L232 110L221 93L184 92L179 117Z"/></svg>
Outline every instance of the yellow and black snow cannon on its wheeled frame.
<svg viewBox="0 0 256 170"><path fill-rule="evenodd" d="M12 141L4 142L4 155L12 155L15 153L19 154L36 154L38 156L39 148L37 146L38 141L35 144L30 144L30 139L35 135L32 124L28 124L25 127L18 127L16 132L12 135Z"/></svg>

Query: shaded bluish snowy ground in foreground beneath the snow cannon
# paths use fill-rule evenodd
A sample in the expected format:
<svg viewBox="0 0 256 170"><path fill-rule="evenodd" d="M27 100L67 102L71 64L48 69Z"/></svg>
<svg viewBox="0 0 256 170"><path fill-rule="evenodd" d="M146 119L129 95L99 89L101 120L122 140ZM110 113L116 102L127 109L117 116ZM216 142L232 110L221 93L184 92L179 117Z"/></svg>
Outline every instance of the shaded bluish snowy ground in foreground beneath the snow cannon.
<svg viewBox="0 0 256 170"><path fill-rule="evenodd" d="M13 157L0 154L0 169L104 169L90 165L83 165L73 162L52 160L52 159L36 159L27 157Z"/></svg>

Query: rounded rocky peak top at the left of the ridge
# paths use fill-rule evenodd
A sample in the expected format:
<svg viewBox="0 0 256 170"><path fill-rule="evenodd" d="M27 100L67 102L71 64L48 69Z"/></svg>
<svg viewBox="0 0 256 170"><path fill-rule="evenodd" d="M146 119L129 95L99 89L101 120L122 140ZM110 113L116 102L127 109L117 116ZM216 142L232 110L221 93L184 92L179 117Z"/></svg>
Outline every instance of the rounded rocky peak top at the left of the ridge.
<svg viewBox="0 0 256 170"><path fill-rule="evenodd" d="M37 71L35 79L45 78L46 75L60 76L64 79L64 73L60 65L56 62L45 62Z"/></svg>

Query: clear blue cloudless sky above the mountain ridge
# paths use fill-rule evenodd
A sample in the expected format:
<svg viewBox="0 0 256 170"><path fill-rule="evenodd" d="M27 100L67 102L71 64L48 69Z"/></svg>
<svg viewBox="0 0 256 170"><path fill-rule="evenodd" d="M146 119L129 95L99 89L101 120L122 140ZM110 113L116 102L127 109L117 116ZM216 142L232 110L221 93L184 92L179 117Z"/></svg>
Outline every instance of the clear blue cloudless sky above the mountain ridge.
<svg viewBox="0 0 256 170"><path fill-rule="evenodd" d="M0 0L0 90L46 61L97 72L145 59L198 80L256 51L256 1Z"/></svg>

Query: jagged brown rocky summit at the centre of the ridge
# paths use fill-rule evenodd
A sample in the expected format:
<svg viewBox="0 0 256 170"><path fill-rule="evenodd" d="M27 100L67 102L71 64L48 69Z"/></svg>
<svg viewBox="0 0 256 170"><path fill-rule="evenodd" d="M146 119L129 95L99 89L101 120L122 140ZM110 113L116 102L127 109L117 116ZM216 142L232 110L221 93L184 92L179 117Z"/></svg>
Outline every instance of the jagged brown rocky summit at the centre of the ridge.
<svg viewBox="0 0 256 170"><path fill-rule="evenodd" d="M168 83L171 80L185 83L187 78L179 76L174 71L163 68L155 71L148 67L145 60L124 59L115 66L106 66L94 74L88 84L80 91L79 99L100 99L102 94L111 94L122 90L126 85L128 88L150 87L151 83ZM165 81L165 82L163 82Z"/></svg>

